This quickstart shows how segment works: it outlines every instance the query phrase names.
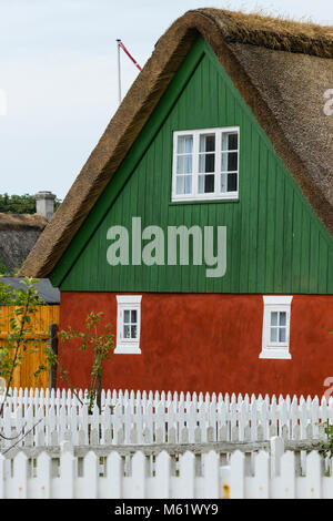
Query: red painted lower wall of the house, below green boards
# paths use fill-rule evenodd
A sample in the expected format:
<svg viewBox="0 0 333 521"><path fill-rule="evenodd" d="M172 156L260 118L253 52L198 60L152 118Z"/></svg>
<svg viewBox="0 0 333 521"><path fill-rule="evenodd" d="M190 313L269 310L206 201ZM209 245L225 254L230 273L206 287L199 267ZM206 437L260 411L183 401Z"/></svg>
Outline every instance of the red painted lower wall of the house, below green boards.
<svg viewBox="0 0 333 521"><path fill-rule="evenodd" d="M82 330L90 311L104 311L117 333L113 293L61 294L61 328ZM141 355L113 355L103 387L145 390L323 395L333 377L333 296L295 295L292 360L259 359L262 295L143 294ZM72 385L89 382L90 358L60 345Z"/></svg>

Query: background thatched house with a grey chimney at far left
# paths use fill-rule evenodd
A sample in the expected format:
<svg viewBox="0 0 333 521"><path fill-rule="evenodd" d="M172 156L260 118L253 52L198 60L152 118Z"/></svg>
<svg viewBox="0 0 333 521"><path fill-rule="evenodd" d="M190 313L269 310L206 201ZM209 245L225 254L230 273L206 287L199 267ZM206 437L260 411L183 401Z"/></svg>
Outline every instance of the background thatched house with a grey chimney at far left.
<svg viewBox="0 0 333 521"><path fill-rule="evenodd" d="M51 192L36 195L36 214L0 213L0 274L20 268L54 212Z"/></svg>

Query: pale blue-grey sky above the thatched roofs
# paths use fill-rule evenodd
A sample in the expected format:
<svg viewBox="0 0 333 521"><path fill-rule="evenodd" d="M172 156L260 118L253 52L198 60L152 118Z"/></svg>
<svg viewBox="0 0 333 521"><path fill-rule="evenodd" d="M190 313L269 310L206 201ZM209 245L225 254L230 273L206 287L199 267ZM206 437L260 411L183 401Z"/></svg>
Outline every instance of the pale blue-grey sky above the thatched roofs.
<svg viewBox="0 0 333 521"><path fill-rule="evenodd" d="M0 193L63 198L118 108L115 40L143 65L200 7L333 24L332 0L0 0ZM139 71L121 69L124 95Z"/></svg>

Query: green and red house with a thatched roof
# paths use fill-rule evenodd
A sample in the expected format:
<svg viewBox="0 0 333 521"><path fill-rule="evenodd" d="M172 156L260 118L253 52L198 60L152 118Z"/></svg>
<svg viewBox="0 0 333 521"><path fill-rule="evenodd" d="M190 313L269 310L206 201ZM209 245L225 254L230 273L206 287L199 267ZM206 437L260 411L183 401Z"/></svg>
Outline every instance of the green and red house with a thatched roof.
<svg viewBox="0 0 333 521"><path fill-rule="evenodd" d="M332 58L332 28L218 9L158 41L21 269L60 288L61 327L113 323L104 386L324 392Z"/></svg>

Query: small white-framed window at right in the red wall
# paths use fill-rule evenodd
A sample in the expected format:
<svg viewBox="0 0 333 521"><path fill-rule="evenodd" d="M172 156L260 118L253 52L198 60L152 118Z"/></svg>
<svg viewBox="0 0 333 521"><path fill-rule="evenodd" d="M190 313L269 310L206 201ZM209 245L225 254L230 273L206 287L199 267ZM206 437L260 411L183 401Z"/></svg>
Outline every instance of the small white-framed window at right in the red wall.
<svg viewBox="0 0 333 521"><path fill-rule="evenodd" d="M293 297L264 296L262 351L260 358L291 359L290 318Z"/></svg>

